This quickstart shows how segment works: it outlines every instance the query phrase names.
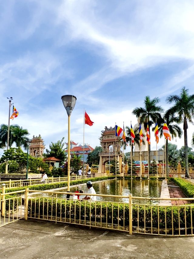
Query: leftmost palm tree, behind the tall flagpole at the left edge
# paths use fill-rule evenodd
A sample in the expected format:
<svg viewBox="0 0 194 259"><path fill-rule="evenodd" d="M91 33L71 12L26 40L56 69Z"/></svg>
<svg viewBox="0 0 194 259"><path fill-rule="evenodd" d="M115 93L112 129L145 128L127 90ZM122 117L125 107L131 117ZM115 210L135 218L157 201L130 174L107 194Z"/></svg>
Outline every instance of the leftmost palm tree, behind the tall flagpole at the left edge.
<svg viewBox="0 0 194 259"><path fill-rule="evenodd" d="M14 130L16 127L19 127L19 125L14 124L10 125L9 128L9 147L13 145L14 142ZM7 135L8 135L8 125L6 124L1 124L0 126L0 147L5 148L7 145Z"/></svg>

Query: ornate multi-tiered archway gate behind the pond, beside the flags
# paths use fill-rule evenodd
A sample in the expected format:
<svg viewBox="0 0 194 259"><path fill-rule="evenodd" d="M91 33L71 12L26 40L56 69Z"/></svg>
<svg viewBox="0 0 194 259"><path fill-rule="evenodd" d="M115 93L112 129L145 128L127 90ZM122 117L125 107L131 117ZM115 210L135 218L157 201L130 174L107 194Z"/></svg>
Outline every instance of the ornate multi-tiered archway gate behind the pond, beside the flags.
<svg viewBox="0 0 194 259"><path fill-rule="evenodd" d="M122 152L121 142L119 137L115 137L115 127L107 128L105 127L104 131L101 131L100 145L102 146L102 152L99 153L100 162L98 173L105 173L105 163L110 160L117 160L119 162L119 172L122 172ZM112 150L109 152L109 147L112 147Z"/></svg>

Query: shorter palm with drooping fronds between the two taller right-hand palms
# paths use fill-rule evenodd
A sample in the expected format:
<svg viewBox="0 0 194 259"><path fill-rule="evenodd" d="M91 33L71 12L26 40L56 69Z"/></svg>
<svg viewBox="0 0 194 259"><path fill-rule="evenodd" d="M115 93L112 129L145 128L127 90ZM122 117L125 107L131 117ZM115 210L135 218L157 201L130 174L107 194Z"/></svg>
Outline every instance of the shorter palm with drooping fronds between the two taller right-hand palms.
<svg viewBox="0 0 194 259"><path fill-rule="evenodd" d="M162 128L165 120L166 120L166 124L168 125L169 132L172 136L172 139L177 137L181 138L182 130L177 124L179 122L179 118L171 116L171 114L169 114L169 111L167 111L164 114L164 118L162 119L162 121L161 120L157 121L158 130L160 132L160 138L162 138L163 136ZM155 130L155 127L152 128L152 131L154 130ZM168 139L166 139L165 141L166 141L166 175L168 176L169 175L169 166L168 166L169 165L169 143L168 143Z"/></svg>

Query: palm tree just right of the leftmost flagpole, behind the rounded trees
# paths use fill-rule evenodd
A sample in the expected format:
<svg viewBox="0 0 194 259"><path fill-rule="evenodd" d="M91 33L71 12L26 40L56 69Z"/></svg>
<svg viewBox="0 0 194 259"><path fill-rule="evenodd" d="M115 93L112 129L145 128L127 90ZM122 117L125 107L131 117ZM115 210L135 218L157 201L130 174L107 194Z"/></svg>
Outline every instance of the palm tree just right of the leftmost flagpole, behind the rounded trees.
<svg viewBox="0 0 194 259"><path fill-rule="evenodd" d="M18 126L14 128L13 131L13 138L16 147L23 146L25 149L27 149L26 141L29 141L30 139L27 137L29 135L29 132L27 129L23 129L22 127Z"/></svg>

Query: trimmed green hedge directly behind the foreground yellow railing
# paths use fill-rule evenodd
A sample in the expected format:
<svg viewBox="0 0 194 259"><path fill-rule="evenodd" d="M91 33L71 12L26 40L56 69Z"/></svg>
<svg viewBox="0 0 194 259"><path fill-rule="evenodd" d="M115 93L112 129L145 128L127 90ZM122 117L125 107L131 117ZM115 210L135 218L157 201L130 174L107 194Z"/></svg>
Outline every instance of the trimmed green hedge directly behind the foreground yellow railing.
<svg viewBox="0 0 194 259"><path fill-rule="evenodd" d="M44 206L43 206L44 201ZM56 205L57 201L57 205ZM66 210L65 210L66 204ZM71 206L70 206L71 204ZM40 210L39 210L40 206ZM102 209L101 209L102 207ZM144 228L144 210L145 210L145 226L151 227L151 206L144 206L144 205L132 205L132 225L138 225L138 207L139 207L139 227ZM48 208L48 209L47 209ZM57 214L56 214L57 208ZM112 213L113 208L113 213ZM180 215L180 227L185 228L185 209L186 209L186 224L187 227L191 227L191 210L192 210L192 220L194 221L194 206L168 206L165 207L159 206L159 228L165 228L165 214L166 214L166 227L172 228L172 213L173 213L173 227L179 227L179 220L178 220L178 213ZM32 199L28 203L28 216L30 217L31 213L32 216L36 213L36 216L43 218L43 210L44 215L48 215L55 217L62 217L62 218L69 218L70 211L71 211L71 218L79 220L81 215L81 220L90 219L91 221L101 221L106 223L106 216L107 216L107 223L118 224L120 226L129 226L129 204L125 203L111 203L108 202L107 205L105 202L91 202L91 210L90 210L90 203L88 201L77 201L77 200L65 200L65 199L56 199L56 198L38 198ZM79 215L80 212L80 215ZM102 212L102 213L101 213ZM119 214L118 214L119 213ZM124 218L123 218L124 216ZM102 218L102 219L101 219ZM124 222L124 223L123 223ZM158 206L152 206L152 227L158 228Z"/></svg>

